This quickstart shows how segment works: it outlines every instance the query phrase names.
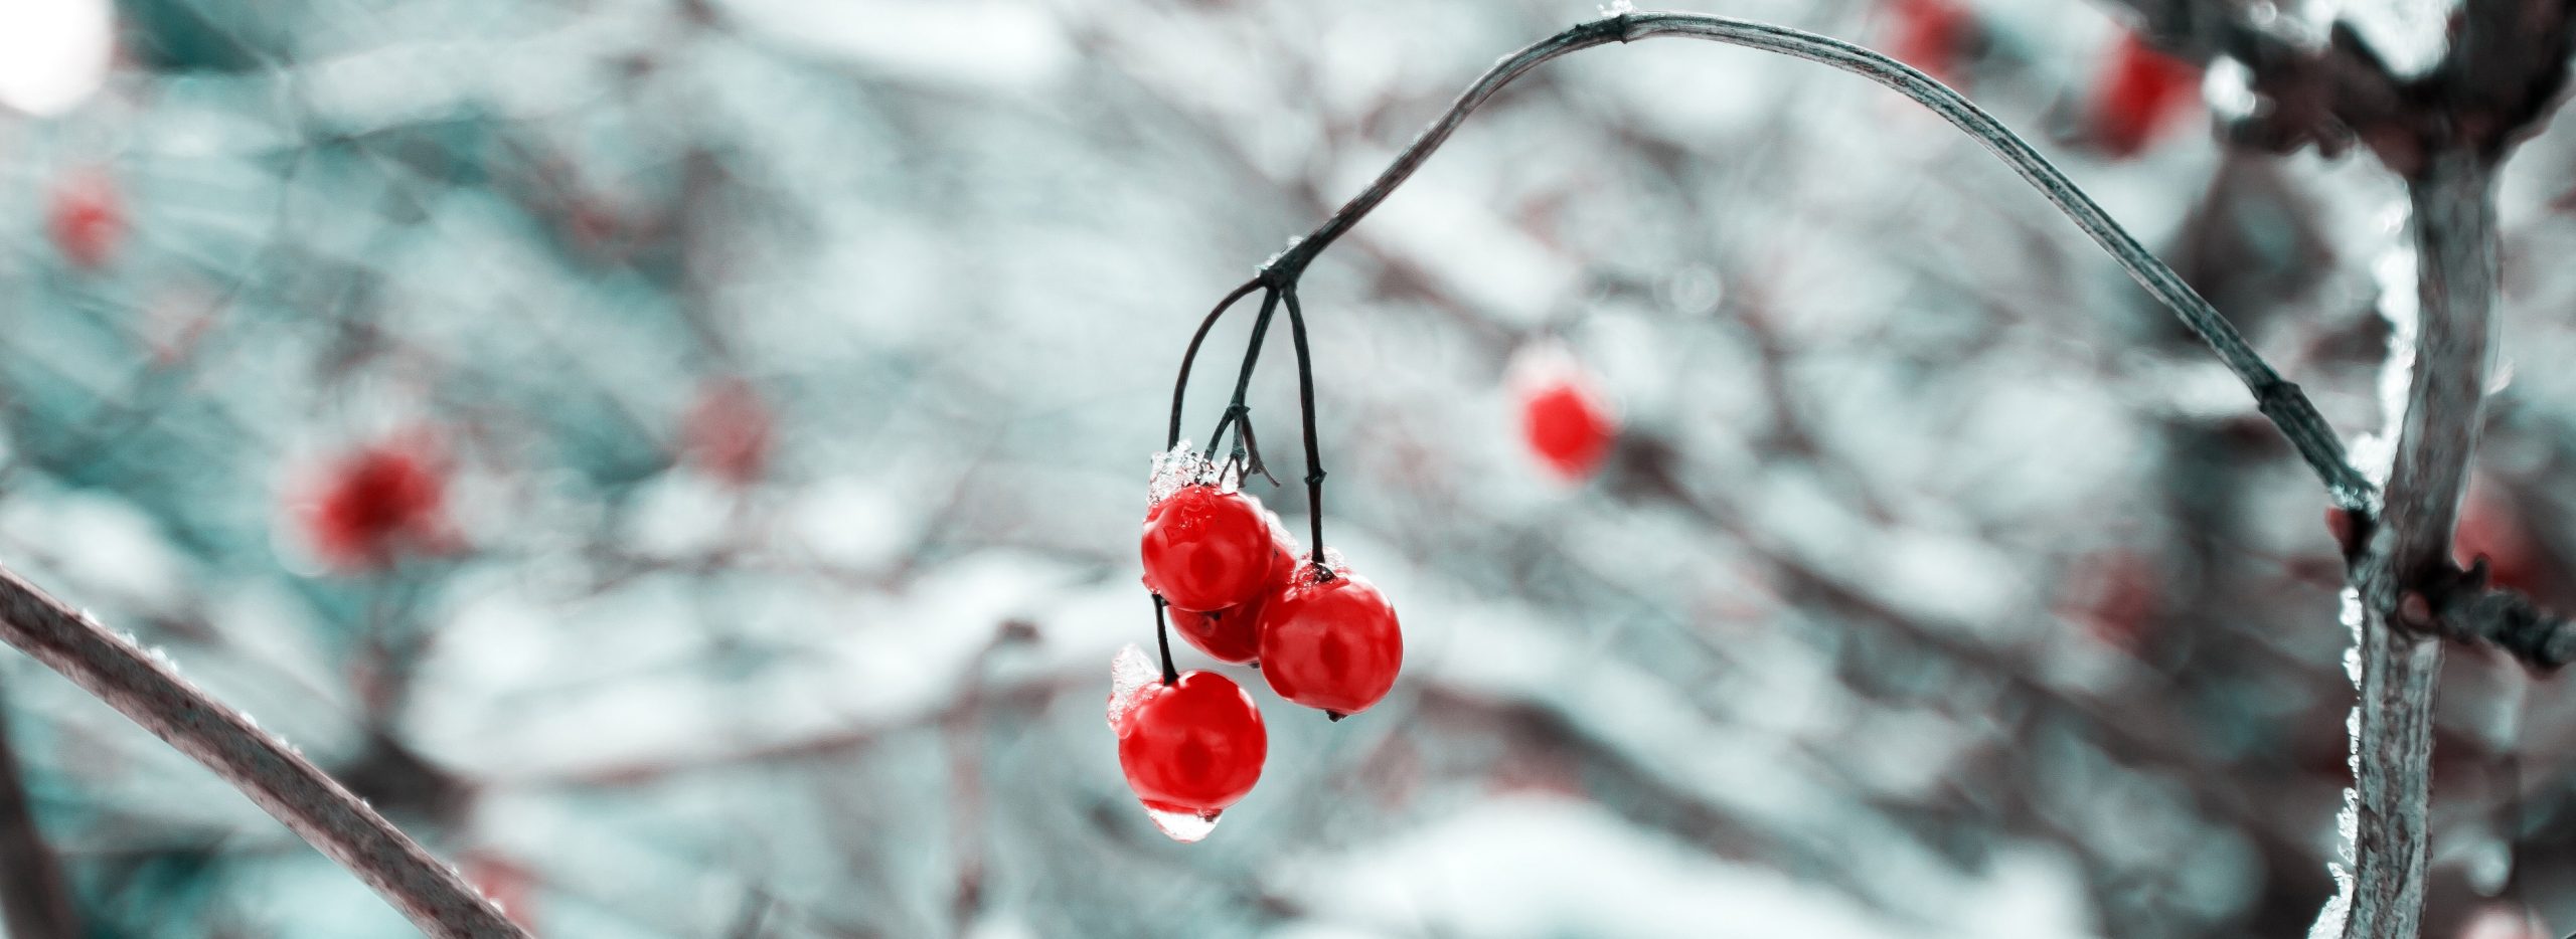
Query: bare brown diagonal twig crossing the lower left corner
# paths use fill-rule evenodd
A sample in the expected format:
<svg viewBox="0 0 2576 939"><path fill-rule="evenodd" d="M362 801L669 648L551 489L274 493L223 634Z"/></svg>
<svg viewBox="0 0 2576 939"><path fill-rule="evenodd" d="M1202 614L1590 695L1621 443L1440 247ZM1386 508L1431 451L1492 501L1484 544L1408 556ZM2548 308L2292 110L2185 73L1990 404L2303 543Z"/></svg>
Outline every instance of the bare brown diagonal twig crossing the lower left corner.
<svg viewBox="0 0 2576 939"><path fill-rule="evenodd" d="M376 888L430 936L528 936L319 767L167 664L0 569L0 641L80 684Z"/></svg>

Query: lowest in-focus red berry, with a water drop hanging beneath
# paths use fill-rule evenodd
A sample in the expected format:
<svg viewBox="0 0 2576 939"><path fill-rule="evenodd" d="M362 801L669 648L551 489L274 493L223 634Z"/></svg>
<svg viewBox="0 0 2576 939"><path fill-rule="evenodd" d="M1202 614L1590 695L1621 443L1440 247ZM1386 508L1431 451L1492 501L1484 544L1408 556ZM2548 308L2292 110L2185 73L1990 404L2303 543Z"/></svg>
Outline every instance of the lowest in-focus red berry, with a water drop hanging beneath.
<svg viewBox="0 0 2576 939"><path fill-rule="evenodd" d="M1216 671L1136 689L1115 728L1128 787L1164 813L1213 818L1252 792L1270 754L1252 695Z"/></svg>

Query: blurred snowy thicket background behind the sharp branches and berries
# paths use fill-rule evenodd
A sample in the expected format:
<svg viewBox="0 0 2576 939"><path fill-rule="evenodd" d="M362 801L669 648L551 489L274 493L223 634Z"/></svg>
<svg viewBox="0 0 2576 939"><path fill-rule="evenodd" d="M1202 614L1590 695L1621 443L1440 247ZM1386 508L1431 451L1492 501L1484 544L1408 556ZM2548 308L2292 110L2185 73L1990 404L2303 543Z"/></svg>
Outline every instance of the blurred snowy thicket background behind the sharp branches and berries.
<svg viewBox="0 0 2576 939"><path fill-rule="evenodd" d="M2367 157L2226 152L2197 103L2112 154L2110 5L1927 41L1924 3L1700 10L1945 57L2380 424L2411 260ZM2300 934L2347 785L2316 481L1976 144L1687 41L1517 82L1311 270L1327 535L1406 671L1327 723L1229 669L1260 787L1195 846L1136 810L1103 697L1188 332L1589 15L0 0L0 561L549 936ZM2463 538L2576 602L2563 136L2504 183ZM1533 342L1625 417L1584 484L1520 440ZM363 453L440 491L381 558L312 515ZM2450 669L2429 934L2576 929L2576 707ZM93 934L407 934L26 656L0 697Z"/></svg>

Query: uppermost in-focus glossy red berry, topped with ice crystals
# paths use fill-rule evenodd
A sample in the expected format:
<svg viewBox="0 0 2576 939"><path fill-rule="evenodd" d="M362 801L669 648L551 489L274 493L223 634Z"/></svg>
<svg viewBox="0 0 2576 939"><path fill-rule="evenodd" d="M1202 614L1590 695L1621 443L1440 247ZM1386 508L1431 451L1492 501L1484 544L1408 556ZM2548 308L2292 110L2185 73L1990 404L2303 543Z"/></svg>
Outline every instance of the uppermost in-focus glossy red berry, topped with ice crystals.
<svg viewBox="0 0 2576 939"><path fill-rule="evenodd" d="M1260 502L1182 486L1144 517L1144 584L1177 610L1226 610L1270 579L1270 522Z"/></svg>

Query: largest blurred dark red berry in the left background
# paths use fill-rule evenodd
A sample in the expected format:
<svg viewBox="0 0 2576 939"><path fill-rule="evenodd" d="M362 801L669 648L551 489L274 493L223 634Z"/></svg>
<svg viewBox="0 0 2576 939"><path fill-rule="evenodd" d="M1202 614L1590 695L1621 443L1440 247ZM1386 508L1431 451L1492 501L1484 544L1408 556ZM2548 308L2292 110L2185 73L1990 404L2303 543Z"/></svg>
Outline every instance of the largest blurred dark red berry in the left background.
<svg viewBox="0 0 2576 939"><path fill-rule="evenodd" d="M304 507L322 561L381 569L404 551L435 551L446 538L446 481L417 442L384 442L335 463Z"/></svg>

